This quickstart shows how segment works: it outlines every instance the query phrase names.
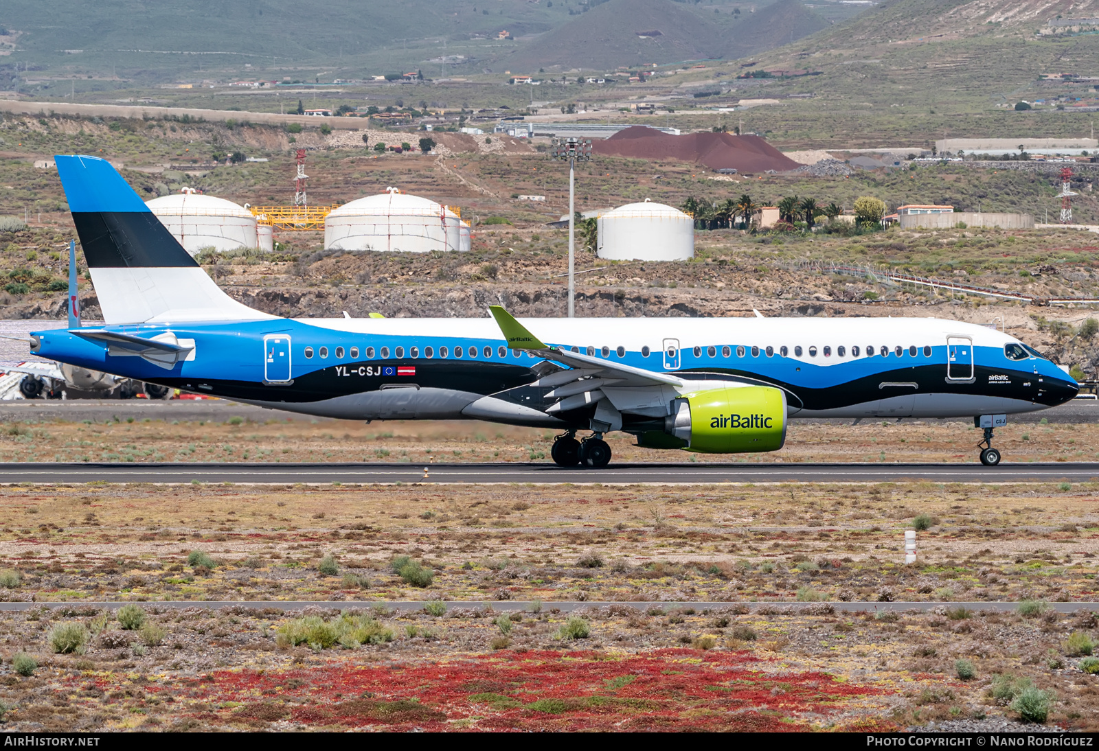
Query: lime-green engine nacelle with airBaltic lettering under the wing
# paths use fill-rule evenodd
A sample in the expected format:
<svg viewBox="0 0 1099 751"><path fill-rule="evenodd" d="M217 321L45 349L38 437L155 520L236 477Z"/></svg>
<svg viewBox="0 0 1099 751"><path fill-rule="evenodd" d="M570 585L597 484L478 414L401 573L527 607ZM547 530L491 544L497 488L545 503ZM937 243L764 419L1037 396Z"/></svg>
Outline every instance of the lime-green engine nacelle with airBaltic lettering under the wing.
<svg viewBox="0 0 1099 751"><path fill-rule="evenodd" d="M684 394L671 403L665 431L689 451L777 451L786 442L786 393L746 385Z"/></svg>

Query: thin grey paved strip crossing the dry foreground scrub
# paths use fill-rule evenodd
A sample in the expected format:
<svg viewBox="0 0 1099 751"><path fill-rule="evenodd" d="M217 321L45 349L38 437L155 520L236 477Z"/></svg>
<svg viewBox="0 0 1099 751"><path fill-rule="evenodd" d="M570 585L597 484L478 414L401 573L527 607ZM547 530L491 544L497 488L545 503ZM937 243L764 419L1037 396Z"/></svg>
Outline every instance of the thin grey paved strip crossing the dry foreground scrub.
<svg viewBox="0 0 1099 751"><path fill-rule="evenodd" d="M71 603L0 603L0 612L3 610L30 610L34 608L60 608L60 607L90 607L90 608L116 608L123 605L129 605L133 601L125 602L71 602ZM200 607L210 608L213 610L220 610L226 607L248 607L255 609L266 609L275 608L278 610L302 610L307 607L317 608L352 608L352 607L376 607L381 606L393 610L419 610L426 605L425 602L415 601L363 601L363 599L340 599L340 601L318 601L318 599L299 599L299 601L285 601L285 599L168 599L160 602L140 602L138 605L143 607L165 607L165 608L188 608L188 607ZM484 599L478 601L466 601L466 602L455 602L449 601L445 603L448 610L457 609L492 609L497 612L526 612L531 610L534 603L522 602L522 601L503 601L503 602L488 602ZM631 607L635 610L644 610L650 607L662 607L665 609L670 608L695 608L696 610L706 609L718 609L723 607L732 607L733 605L743 605L752 610L757 610L761 607L779 607L779 608L790 608L793 612L799 612L802 609L818 609L821 606L831 605L836 610L842 610L844 613L862 613L864 610L918 610L921 613L926 613L928 610L933 610L939 607L956 609L964 607L967 610L999 610L999 612L1010 612L1019 607L1019 603L1002 603L1002 602L952 602L952 603L933 603L933 602L922 602L922 603L787 603L787 602L746 602L746 603L733 603L733 602L669 602L669 601L652 601L652 602L610 602L610 603L599 603L599 602L546 602L539 603L539 607L542 610L559 610L562 613L576 613L578 610L589 610L603 607ZM1099 610L1099 603L1048 603L1051 609L1057 613L1075 613L1077 610Z"/></svg>

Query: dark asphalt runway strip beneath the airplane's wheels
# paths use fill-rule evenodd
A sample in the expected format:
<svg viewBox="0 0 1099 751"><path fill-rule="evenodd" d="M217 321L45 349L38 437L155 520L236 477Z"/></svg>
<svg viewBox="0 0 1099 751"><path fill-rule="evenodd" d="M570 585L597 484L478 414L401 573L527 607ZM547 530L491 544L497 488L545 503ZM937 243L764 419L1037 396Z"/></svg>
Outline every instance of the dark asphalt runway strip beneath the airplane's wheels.
<svg viewBox="0 0 1099 751"><path fill-rule="evenodd" d="M644 463L599 470L542 463L0 463L0 483L603 483L1095 482L1099 463L810 464Z"/></svg>

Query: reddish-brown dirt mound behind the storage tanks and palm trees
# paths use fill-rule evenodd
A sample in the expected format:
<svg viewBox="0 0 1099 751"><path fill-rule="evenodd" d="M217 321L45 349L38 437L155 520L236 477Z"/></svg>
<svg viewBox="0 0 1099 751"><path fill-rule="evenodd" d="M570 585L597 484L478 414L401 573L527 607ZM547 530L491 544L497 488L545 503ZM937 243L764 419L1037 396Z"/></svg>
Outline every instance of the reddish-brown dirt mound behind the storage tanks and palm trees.
<svg viewBox="0 0 1099 751"><path fill-rule="evenodd" d="M634 159L679 159L710 169L737 172L785 172L801 167L759 136L732 133L688 133L668 135L635 125L592 144L596 154Z"/></svg>

